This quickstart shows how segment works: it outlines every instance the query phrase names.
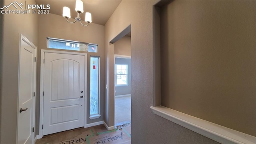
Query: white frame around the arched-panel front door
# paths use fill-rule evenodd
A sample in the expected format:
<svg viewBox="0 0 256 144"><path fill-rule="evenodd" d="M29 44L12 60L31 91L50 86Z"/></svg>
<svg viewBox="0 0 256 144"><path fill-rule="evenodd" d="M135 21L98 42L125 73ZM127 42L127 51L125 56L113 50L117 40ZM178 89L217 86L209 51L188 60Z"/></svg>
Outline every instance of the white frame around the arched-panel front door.
<svg viewBox="0 0 256 144"><path fill-rule="evenodd" d="M87 94L87 53L81 52L68 52L68 51L60 51L60 50L45 50L41 49L41 61L40 61L40 115L39 115L39 138L43 137L43 120L44 120L44 99L43 99L43 91L44 91L44 54L48 53L57 53L57 54L73 54L73 55L82 55L84 58L84 94ZM86 128L86 117L87 117L87 95L84 95L84 128Z"/></svg>

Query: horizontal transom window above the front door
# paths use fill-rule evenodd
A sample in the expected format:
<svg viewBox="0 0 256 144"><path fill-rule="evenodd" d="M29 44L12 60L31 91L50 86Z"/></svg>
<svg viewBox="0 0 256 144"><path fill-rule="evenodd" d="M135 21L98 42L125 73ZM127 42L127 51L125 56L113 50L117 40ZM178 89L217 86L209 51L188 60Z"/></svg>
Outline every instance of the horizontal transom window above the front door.
<svg viewBox="0 0 256 144"><path fill-rule="evenodd" d="M83 52L98 52L98 44L77 42L72 40L62 40L58 38L47 38L47 48L76 50Z"/></svg>

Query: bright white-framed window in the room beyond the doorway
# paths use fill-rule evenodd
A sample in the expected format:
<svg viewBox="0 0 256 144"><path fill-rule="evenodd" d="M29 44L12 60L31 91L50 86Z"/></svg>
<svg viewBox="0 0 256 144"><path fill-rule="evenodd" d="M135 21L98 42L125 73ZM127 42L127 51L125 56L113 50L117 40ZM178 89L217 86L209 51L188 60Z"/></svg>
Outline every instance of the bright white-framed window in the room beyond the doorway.
<svg viewBox="0 0 256 144"><path fill-rule="evenodd" d="M128 64L115 65L115 85L116 86L128 85Z"/></svg>

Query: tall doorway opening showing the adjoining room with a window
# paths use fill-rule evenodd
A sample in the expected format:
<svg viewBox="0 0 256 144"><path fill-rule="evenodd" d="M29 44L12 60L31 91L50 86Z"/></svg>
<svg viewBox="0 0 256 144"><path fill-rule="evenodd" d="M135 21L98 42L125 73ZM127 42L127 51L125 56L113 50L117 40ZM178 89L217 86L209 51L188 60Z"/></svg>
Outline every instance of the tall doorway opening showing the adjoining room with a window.
<svg viewBox="0 0 256 144"><path fill-rule="evenodd" d="M115 42L115 125L131 122L131 37Z"/></svg>

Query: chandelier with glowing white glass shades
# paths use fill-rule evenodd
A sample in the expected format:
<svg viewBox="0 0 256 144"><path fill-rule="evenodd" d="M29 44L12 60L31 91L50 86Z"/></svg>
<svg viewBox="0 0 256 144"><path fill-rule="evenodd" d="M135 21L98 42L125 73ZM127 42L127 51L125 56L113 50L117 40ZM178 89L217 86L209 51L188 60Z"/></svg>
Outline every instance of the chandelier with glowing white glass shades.
<svg viewBox="0 0 256 144"><path fill-rule="evenodd" d="M75 18L74 22L69 22L68 18L71 18L70 16L70 8L64 6L63 7L63 14L62 16L64 16L64 18L66 18L67 22L69 23L75 23L76 21L79 21L80 24L82 24L81 22L81 18L80 18L80 14L84 12L84 7L83 7L83 2L82 0L76 0L76 8L75 8L76 12L77 12L77 16ZM90 12L86 12L85 13L85 20L84 20L87 24L82 24L83 26L88 26L91 22L92 22L92 14Z"/></svg>

